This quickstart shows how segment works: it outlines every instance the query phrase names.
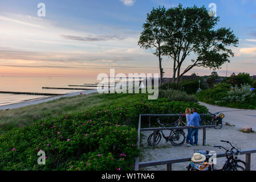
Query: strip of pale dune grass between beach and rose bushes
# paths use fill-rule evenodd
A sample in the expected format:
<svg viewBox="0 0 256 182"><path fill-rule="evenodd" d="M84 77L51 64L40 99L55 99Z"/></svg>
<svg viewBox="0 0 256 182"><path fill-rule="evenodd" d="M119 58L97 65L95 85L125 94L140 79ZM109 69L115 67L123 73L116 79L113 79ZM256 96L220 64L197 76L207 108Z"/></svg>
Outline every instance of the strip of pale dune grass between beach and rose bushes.
<svg viewBox="0 0 256 182"><path fill-rule="evenodd" d="M106 99L106 97L108 97ZM30 125L31 123L47 118L56 118L64 114L76 113L90 109L97 105L107 104L111 101L108 94L82 94L74 97L62 97L58 100L30 105L17 109L0 111L0 134L13 127Z"/></svg>

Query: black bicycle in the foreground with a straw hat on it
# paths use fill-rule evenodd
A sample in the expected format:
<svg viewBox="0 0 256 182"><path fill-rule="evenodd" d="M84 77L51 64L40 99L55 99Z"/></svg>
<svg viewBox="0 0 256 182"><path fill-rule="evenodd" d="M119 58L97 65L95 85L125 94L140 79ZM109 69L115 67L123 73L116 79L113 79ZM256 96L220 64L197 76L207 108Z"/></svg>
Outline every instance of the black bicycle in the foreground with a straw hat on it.
<svg viewBox="0 0 256 182"><path fill-rule="evenodd" d="M190 162L190 164L188 166L188 171L245 171L245 168L238 165L238 163L242 163L244 166L246 165L245 162L238 159L238 155L239 155L240 151L237 148L235 148L229 141L221 140L221 142L229 143L232 146L232 148L230 150L227 150L225 147L222 147L222 146L214 146L214 147L218 147L218 148L224 148L224 150L226 150L226 152L225 152L226 162L221 169L216 169L214 167L214 164L209 163L209 159L212 156L212 155L209 155L209 151L196 151L202 155L205 155L206 160L204 163ZM234 152L233 151L234 149L237 150L237 152ZM229 152L231 153L230 156L228 155Z"/></svg>

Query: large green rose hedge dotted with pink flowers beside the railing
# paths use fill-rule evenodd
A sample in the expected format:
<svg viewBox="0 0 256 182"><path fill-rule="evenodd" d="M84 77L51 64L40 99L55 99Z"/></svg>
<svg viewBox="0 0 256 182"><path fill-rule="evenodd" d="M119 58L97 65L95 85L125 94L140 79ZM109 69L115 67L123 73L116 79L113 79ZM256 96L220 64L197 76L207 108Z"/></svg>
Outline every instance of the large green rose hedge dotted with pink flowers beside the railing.
<svg viewBox="0 0 256 182"><path fill-rule="evenodd" d="M186 107L208 113L205 106L196 102L148 100L147 94L96 97L112 101L86 111L39 120L0 135L0 169L131 170L139 155L139 114L184 113ZM46 152L45 165L37 163L39 150Z"/></svg>

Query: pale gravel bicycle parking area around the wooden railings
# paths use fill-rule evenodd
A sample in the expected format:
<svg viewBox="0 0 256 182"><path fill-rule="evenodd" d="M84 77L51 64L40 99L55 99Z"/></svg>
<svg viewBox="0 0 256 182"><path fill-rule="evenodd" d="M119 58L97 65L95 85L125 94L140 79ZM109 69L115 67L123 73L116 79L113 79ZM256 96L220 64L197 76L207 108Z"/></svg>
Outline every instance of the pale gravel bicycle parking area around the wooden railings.
<svg viewBox="0 0 256 182"><path fill-rule="evenodd" d="M166 131L167 132L167 131ZM206 146L202 146L202 130L199 130L199 146L188 147L186 143L180 147L174 147L170 142L166 143L164 139L157 145L155 150L153 147L148 146L147 138L152 131L142 131L141 132L141 153L142 158L140 162L149 162L154 160L166 160L166 159L177 159L192 157L195 150L209 150L216 151L217 154L225 152L222 149L214 148L213 146L229 146L226 143L220 142L220 140L229 140L237 144L240 150L249 150L256 148L256 133L242 133L239 131L239 127L235 126L223 126L221 130L216 129L206 129ZM186 131L185 131L186 133ZM167 135L167 133L166 133ZM240 159L245 160L245 155L239 156ZM217 158L217 168L221 168L225 163L225 158ZM184 171L189 162L177 163L172 165L174 171ZM153 171L164 171L166 170L166 165L164 166L152 166L140 168L140 170L153 170ZM251 154L251 170L256 170L256 154Z"/></svg>

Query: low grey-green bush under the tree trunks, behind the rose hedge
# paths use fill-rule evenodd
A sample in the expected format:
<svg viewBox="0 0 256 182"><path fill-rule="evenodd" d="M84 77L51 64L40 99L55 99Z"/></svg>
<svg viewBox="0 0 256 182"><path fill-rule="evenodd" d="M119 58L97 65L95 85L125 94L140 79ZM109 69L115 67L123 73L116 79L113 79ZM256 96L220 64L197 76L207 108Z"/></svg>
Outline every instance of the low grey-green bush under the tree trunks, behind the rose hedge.
<svg viewBox="0 0 256 182"><path fill-rule="evenodd" d="M198 102L197 98L188 95L186 92L180 90L159 90L160 98L167 98L168 101L184 101L184 102Z"/></svg>

